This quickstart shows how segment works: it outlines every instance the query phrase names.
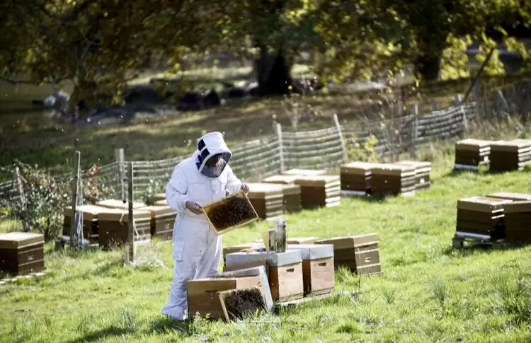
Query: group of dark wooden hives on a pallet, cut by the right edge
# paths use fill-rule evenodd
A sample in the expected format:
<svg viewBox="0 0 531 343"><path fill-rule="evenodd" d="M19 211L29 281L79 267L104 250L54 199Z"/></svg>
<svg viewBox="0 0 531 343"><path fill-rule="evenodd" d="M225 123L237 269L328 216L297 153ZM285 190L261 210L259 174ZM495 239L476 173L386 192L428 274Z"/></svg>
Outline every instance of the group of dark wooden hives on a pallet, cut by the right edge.
<svg viewBox="0 0 531 343"><path fill-rule="evenodd" d="M457 201L455 238L531 242L531 194L495 192Z"/></svg>

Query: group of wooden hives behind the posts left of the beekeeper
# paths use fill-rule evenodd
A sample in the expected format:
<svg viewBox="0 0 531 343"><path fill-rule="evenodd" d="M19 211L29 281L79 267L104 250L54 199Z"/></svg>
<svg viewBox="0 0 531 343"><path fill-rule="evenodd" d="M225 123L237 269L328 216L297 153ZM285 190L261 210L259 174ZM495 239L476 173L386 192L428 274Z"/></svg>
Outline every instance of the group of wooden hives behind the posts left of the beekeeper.
<svg viewBox="0 0 531 343"><path fill-rule="evenodd" d="M110 249L127 241L129 204L117 199L107 199L95 205L77 206L76 211L83 214L83 236L90 243L98 243L102 248ZM147 242L152 238L170 240L173 235L173 223L176 211L166 203L164 194L156 194L153 205L133 203L135 221L135 241ZM70 235L72 207L64 209L63 236Z"/></svg>

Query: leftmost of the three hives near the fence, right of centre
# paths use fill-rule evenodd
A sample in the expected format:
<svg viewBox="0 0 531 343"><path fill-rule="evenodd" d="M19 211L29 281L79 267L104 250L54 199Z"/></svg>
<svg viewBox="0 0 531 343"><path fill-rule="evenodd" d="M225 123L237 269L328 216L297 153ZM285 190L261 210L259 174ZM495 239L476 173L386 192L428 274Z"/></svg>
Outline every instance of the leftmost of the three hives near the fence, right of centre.
<svg viewBox="0 0 531 343"><path fill-rule="evenodd" d="M372 168L378 164L351 162L341 165L341 192L346 195L365 195L371 190Z"/></svg>

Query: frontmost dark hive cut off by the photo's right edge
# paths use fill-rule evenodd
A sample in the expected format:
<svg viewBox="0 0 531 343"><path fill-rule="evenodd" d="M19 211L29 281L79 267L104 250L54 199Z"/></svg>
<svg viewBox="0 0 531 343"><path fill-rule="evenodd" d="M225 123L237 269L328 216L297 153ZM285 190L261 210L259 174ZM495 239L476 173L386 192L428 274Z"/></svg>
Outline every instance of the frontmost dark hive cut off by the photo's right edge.
<svg viewBox="0 0 531 343"><path fill-rule="evenodd" d="M503 204L506 240L510 243L531 242L531 201L519 200Z"/></svg>

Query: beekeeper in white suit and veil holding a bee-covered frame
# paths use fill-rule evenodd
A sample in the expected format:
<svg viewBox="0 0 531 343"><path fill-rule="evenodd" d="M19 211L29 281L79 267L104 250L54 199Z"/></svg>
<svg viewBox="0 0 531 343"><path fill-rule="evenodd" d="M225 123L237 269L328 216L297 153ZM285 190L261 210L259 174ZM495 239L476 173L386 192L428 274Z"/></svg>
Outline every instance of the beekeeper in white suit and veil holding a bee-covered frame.
<svg viewBox="0 0 531 343"><path fill-rule="evenodd" d="M166 201L177 211L173 226L173 282L162 313L187 318L186 281L217 274L222 240L202 214L202 206L249 187L232 173L232 153L219 132L198 141L198 150L178 163L166 185Z"/></svg>

